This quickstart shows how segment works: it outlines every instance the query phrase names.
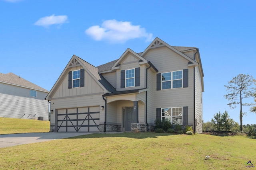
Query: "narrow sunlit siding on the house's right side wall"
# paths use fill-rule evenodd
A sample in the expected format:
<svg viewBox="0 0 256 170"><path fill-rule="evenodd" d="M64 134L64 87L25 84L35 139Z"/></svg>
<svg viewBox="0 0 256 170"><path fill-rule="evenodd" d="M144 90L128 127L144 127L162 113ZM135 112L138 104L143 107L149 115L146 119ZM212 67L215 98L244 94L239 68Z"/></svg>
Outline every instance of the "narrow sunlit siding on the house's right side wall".
<svg viewBox="0 0 256 170"><path fill-rule="evenodd" d="M197 119L196 131L202 133L202 86L198 67L196 67L195 113Z"/></svg>

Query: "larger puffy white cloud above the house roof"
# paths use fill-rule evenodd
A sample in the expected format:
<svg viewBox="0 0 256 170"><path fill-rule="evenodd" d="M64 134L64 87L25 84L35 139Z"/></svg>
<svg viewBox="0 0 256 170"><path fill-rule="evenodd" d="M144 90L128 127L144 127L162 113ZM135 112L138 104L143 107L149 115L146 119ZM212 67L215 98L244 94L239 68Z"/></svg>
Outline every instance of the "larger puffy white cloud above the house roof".
<svg viewBox="0 0 256 170"><path fill-rule="evenodd" d="M129 39L146 38L146 41L152 41L152 33L147 33L145 28L140 25L132 25L127 21L107 20L101 25L94 25L86 29L85 33L96 41L107 40L111 42L124 43Z"/></svg>

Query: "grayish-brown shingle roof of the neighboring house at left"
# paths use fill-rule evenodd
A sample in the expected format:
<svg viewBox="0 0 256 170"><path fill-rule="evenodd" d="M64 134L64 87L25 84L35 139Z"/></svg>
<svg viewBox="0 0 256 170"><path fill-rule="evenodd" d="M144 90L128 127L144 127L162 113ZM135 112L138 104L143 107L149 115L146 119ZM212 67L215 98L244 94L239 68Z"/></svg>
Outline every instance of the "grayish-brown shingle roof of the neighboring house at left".
<svg viewBox="0 0 256 170"><path fill-rule="evenodd" d="M17 76L16 74L13 74L12 72L9 72L8 74L0 73L0 82L6 83L6 84L12 84L14 86L30 88L33 90L40 90L42 92L49 92L48 90L46 90L28 80L25 80L24 78L21 78L20 76Z"/></svg>

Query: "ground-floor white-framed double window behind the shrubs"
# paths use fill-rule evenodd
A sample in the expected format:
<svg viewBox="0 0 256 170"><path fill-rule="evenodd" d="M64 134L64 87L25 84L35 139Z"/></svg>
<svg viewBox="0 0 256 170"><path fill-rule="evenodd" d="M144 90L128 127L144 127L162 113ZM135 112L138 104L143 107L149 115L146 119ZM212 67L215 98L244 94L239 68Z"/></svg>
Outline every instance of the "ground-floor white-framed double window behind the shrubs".
<svg viewBox="0 0 256 170"><path fill-rule="evenodd" d="M161 120L166 119L173 125L182 125L182 107L162 108Z"/></svg>

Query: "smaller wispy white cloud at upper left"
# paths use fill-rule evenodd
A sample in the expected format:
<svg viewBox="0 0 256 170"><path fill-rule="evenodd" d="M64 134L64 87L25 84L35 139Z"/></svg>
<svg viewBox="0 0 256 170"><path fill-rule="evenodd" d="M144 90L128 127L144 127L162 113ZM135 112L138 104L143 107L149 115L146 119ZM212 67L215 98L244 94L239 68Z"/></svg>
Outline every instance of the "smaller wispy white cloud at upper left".
<svg viewBox="0 0 256 170"><path fill-rule="evenodd" d="M67 23L68 21L68 16L54 16L54 14L52 16L46 16L43 18L40 18L38 21L36 21L36 23L34 23L34 25L39 25L39 26L44 26L44 27L48 27L49 25L53 25L53 24L62 24L62 23Z"/></svg>

